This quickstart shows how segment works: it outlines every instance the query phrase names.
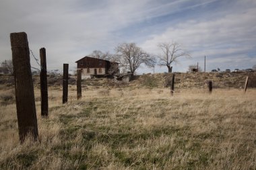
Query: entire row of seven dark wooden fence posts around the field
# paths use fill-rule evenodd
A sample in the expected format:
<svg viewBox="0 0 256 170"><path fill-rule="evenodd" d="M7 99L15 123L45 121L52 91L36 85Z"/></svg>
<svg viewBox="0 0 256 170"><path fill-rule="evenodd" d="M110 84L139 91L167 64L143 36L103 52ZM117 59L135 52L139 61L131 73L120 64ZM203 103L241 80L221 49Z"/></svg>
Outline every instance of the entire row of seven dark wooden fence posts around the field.
<svg viewBox="0 0 256 170"><path fill-rule="evenodd" d="M28 134L32 134L34 140L38 139L38 124L36 118L36 105L34 100L34 87L30 66L30 48L25 32L11 33L11 51L13 60L13 73L15 80L15 101L18 118L18 130L20 142L24 142ZM40 92L41 92L41 116L48 118L48 90L47 90L47 69L46 50L40 48ZM67 103L69 65L63 64L63 103ZM174 95L174 79L170 85L170 95ZM82 97L82 71L77 70L77 99ZM248 77L245 82L245 92L247 91ZM208 82L210 94L212 93L212 81Z"/></svg>

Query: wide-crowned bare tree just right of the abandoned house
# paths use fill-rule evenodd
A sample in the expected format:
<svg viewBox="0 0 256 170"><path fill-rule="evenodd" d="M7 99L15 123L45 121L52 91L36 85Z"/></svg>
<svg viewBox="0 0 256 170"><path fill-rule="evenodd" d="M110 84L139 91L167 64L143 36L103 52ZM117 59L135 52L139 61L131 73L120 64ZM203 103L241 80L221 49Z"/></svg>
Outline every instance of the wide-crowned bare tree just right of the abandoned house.
<svg viewBox="0 0 256 170"><path fill-rule="evenodd" d="M155 58L147 52L144 52L141 48L136 46L135 43L119 44L116 51L121 67L125 67L132 75L141 64L145 64L148 67L154 66Z"/></svg>

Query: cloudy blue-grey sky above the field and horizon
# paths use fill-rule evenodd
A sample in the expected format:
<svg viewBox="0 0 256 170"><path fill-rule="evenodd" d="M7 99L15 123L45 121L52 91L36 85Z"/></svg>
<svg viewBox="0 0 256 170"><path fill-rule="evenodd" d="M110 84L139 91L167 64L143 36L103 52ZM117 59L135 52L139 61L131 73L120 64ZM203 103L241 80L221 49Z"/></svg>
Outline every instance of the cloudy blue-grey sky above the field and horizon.
<svg viewBox="0 0 256 170"><path fill-rule="evenodd" d="M151 54L159 54L160 42L178 42L192 58L180 58L174 71L197 62L203 69L204 56L206 71L256 65L255 0L2 0L0 22L0 61L11 59L9 34L26 32L37 58L46 48L48 69L75 69L93 50L114 53L122 42Z"/></svg>

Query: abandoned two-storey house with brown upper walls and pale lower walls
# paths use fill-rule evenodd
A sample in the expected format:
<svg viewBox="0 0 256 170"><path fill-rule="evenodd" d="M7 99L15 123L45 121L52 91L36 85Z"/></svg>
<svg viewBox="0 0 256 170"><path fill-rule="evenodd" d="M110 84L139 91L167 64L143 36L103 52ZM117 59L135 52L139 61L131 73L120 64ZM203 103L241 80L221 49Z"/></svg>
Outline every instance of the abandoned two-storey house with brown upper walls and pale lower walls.
<svg viewBox="0 0 256 170"><path fill-rule="evenodd" d="M91 77L113 76L119 74L119 63L110 62L100 58L85 56L77 60L77 69L82 70L82 75Z"/></svg>

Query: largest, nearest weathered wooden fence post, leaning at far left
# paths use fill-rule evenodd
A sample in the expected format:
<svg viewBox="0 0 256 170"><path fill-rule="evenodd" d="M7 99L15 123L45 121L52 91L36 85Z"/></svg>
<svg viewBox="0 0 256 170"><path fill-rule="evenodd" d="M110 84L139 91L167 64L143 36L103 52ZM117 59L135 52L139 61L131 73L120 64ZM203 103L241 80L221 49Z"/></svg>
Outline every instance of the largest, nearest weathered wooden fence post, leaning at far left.
<svg viewBox="0 0 256 170"><path fill-rule="evenodd" d="M29 134L37 140L38 126L27 34L11 33L10 39L20 142L24 142Z"/></svg>

